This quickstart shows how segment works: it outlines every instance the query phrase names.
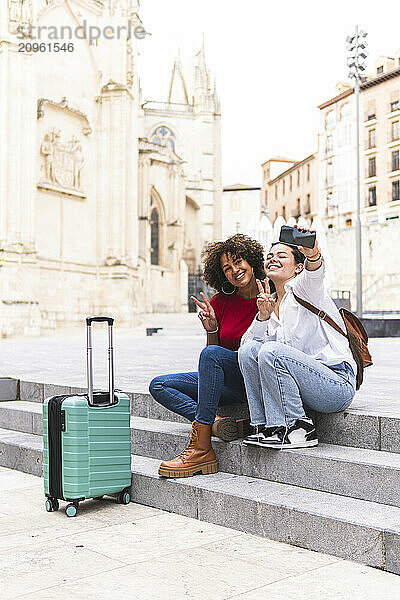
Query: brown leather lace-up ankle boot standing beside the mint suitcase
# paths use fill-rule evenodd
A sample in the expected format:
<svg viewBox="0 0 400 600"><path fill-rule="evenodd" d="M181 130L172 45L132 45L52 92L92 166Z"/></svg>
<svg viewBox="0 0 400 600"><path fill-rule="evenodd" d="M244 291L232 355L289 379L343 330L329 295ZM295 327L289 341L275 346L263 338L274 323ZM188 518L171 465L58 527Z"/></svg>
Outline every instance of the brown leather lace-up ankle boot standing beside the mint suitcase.
<svg viewBox="0 0 400 600"><path fill-rule="evenodd" d="M162 462L163 477L191 477L195 473L217 473L218 464L211 446L211 425L193 421L186 448L173 460Z"/></svg>

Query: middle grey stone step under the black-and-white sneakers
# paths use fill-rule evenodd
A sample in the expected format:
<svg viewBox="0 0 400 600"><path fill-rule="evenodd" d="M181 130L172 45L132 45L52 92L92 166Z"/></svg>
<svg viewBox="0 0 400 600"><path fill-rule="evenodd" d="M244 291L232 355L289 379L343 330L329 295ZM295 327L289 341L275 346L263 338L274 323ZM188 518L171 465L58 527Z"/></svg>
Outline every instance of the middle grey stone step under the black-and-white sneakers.
<svg viewBox="0 0 400 600"><path fill-rule="evenodd" d="M42 435L42 406L11 401L0 405L0 427ZM132 417L132 451L158 461L186 445L189 423ZM18 437L16 438L19 439ZM274 451L213 438L219 469L342 496L400 506L400 454L320 443L315 448ZM8 466L8 465L3 465Z"/></svg>

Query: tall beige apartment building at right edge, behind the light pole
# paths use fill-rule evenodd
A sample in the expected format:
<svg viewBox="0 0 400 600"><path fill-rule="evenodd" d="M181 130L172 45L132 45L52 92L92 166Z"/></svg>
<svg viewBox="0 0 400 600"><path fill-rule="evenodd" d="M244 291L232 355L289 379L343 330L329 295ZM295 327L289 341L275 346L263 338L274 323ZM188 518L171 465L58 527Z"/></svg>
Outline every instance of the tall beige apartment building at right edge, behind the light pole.
<svg viewBox="0 0 400 600"><path fill-rule="evenodd" d="M333 286L355 297L356 118L349 84L321 104L319 216L334 257ZM400 51L379 57L361 85L360 174L364 310L400 308L400 273L387 260L400 234ZM354 308L354 306L353 306Z"/></svg>

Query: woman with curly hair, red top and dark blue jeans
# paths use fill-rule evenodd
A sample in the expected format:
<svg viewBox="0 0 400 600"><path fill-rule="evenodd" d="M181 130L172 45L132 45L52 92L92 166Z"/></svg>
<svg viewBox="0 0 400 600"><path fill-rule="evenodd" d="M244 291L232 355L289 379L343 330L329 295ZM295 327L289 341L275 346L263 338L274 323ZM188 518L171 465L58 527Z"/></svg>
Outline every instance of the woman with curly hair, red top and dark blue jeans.
<svg viewBox="0 0 400 600"><path fill-rule="evenodd" d="M202 253L204 280L217 293L209 301L192 300L207 333L198 371L161 375L150 383L160 404L192 421L189 444L176 458L161 463L164 477L216 473L218 465L211 433L231 441L243 434L243 419L219 417L219 404L246 402L239 369L240 339L252 323L259 292L256 279L264 279L264 251L256 240L236 234L224 242L211 242Z"/></svg>

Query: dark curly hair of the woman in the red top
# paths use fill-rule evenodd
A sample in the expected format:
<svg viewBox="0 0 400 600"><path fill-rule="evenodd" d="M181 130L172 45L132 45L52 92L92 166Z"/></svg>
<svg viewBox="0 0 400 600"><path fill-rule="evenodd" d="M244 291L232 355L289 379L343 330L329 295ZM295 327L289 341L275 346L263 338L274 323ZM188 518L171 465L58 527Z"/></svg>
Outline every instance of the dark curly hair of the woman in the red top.
<svg viewBox="0 0 400 600"><path fill-rule="evenodd" d="M226 254L233 259L243 258L252 267L257 279L264 279L264 248L248 235L236 233L224 242L211 242L201 253L204 266L204 281L210 287L222 292L226 277L221 269L221 256Z"/></svg>

